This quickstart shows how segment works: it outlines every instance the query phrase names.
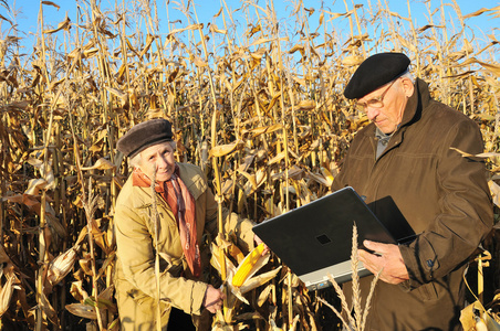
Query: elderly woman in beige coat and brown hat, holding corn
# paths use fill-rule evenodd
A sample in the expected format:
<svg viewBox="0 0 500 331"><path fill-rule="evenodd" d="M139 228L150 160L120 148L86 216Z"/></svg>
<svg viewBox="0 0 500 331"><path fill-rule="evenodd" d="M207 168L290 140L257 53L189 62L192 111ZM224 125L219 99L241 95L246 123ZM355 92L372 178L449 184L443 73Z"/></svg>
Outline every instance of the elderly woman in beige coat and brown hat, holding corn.
<svg viewBox="0 0 500 331"><path fill-rule="evenodd" d="M156 330L158 302L162 330L167 328L171 308L191 314L202 329L199 316L204 311L213 313L222 305L223 293L202 275L208 263L204 258L208 248L204 233L212 237L217 234L218 206L204 172L176 162L175 147L171 125L165 119L136 125L117 142L134 168L118 195L114 216L115 288L122 330ZM243 249L253 246L250 221L226 210L223 220L226 231L236 233ZM160 256L159 298L156 253Z"/></svg>

